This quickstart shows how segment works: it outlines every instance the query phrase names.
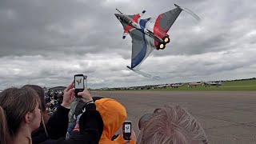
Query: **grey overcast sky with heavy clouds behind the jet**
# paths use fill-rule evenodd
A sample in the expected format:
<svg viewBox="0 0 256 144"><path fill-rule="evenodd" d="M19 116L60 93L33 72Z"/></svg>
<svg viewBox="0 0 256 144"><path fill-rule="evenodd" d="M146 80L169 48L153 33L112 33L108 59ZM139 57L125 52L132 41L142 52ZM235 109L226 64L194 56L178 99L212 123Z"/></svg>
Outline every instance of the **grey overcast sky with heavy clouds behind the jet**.
<svg viewBox="0 0 256 144"><path fill-rule="evenodd" d="M140 66L130 66L131 38L122 39L124 14L143 18L184 6L171 27L165 50L154 50ZM86 74L88 86L143 86L256 77L254 0L0 0L0 90L37 84L67 86Z"/></svg>

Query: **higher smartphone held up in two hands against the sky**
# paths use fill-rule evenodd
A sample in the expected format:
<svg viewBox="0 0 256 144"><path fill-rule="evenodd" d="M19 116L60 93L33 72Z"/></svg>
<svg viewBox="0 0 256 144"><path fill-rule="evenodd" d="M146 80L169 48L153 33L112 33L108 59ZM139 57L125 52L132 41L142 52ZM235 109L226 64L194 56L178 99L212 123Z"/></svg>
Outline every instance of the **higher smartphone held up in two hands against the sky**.
<svg viewBox="0 0 256 144"><path fill-rule="evenodd" d="M76 98L81 98L78 95L79 92L85 90L85 77L83 74L75 74L74 75L74 93Z"/></svg>

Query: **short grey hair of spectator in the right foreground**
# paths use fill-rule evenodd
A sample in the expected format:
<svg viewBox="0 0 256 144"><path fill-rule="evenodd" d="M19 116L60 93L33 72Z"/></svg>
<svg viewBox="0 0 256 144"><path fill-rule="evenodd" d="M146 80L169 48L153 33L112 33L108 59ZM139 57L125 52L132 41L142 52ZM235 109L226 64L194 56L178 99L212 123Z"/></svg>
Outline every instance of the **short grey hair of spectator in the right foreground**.
<svg viewBox="0 0 256 144"><path fill-rule="evenodd" d="M182 106L172 104L154 110L143 126L138 144L206 144L205 130Z"/></svg>

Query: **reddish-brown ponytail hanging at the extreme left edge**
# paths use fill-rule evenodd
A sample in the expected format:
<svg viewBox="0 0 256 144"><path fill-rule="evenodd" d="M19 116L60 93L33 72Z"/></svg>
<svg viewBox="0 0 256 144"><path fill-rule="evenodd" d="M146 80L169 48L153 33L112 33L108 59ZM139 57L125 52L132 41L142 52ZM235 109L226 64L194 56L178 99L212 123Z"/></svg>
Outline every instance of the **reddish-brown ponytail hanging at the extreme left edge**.
<svg viewBox="0 0 256 144"><path fill-rule="evenodd" d="M0 144L10 144L10 132L6 122L5 110L0 106Z"/></svg>

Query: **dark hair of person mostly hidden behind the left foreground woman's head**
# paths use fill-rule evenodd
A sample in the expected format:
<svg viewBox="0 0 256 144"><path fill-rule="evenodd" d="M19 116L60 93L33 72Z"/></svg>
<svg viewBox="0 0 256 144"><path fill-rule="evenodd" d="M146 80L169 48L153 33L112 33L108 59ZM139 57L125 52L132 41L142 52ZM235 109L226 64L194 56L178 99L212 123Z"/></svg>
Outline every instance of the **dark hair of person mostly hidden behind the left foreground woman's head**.
<svg viewBox="0 0 256 144"><path fill-rule="evenodd" d="M42 89L42 87L37 85L25 85L22 87L30 87L33 90L35 90L38 93L38 96L40 97L40 100L41 100L41 106L42 106L41 110L46 111L45 91Z"/></svg>

